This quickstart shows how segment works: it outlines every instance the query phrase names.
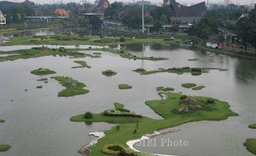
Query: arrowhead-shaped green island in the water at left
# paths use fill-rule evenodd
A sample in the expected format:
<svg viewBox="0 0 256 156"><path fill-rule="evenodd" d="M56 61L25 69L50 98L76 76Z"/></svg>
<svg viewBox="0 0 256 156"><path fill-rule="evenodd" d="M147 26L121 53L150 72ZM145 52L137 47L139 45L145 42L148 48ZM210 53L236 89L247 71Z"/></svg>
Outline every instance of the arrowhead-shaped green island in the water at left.
<svg viewBox="0 0 256 156"><path fill-rule="evenodd" d="M69 96L75 96L78 94L88 94L88 89L83 89L86 87L82 82L79 82L78 80L73 80L71 77L68 76L55 76L52 77L55 80L59 81L59 84L66 87L66 89L59 92L59 97L69 97Z"/></svg>

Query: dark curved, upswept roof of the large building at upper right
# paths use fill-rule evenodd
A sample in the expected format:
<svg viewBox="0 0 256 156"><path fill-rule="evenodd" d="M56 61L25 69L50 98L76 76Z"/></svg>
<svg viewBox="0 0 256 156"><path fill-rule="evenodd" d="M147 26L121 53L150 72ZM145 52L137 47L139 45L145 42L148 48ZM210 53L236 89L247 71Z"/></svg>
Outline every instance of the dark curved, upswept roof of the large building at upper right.
<svg viewBox="0 0 256 156"><path fill-rule="evenodd" d="M206 13L206 2L186 7L173 0L170 5L173 7L173 16L203 16Z"/></svg>

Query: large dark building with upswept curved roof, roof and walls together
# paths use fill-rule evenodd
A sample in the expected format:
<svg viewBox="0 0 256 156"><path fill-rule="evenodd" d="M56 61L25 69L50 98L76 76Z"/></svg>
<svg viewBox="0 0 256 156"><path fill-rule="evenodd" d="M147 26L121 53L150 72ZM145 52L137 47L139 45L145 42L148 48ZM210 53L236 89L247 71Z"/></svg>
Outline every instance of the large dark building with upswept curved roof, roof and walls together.
<svg viewBox="0 0 256 156"><path fill-rule="evenodd" d="M200 21L206 14L206 2L200 2L196 5L186 7L175 0L164 0L164 6L171 7L173 11L170 17L171 21L178 21L183 24Z"/></svg>

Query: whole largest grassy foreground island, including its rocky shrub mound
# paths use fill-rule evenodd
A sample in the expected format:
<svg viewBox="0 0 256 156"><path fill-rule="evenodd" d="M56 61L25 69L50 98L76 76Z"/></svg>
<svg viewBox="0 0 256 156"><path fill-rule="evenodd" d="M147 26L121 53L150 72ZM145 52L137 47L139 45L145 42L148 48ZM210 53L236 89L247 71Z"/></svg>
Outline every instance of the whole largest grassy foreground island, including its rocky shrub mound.
<svg viewBox="0 0 256 156"><path fill-rule="evenodd" d="M104 155L102 149L106 145L121 145L127 153L138 155L135 151L131 151L128 148L126 145L128 140L135 140L142 135L187 122L203 120L220 121L237 115L230 110L229 103L218 99L192 97L172 92L168 92L166 95L167 99L146 102L149 108L152 108L154 112L164 117L162 120L155 120L149 117L104 116L104 113L93 113L91 119L85 118L84 114L81 114L71 117L70 120L73 122L110 122L118 124L112 127L111 130L106 131L106 136L99 140L97 145L92 146L92 153L90 155ZM115 109L108 111L115 113L116 108L123 108L123 105L115 104ZM178 112L179 110L181 112Z"/></svg>

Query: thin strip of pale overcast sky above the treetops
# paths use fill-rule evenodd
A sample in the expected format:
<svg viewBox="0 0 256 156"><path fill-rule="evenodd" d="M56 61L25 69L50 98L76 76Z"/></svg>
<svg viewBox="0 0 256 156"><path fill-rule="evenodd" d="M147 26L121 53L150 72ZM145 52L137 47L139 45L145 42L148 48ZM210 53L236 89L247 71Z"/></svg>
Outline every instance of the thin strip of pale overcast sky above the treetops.
<svg viewBox="0 0 256 156"><path fill-rule="evenodd" d="M0 1L11 1L11 2L23 2L25 0L0 0ZM61 0L30 0L31 2L36 2L36 3L53 3L53 2L60 2ZM67 3L67 2L81 2L81 1L87 1L87 2L94 2L95 0L62 0L62 2ZM109 0L109 2L136 2L138 0ZM155 2L155 3L163 3L163 0L147 0L149 2ZM177 2L180 3L196 3L196 2L203 2L207 0L176 0ZM223 3L225 0L209 0L209 2L221 2ZM256 0L230 0L230 2L233 3L256 3Z"/></svg>

